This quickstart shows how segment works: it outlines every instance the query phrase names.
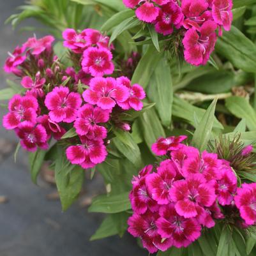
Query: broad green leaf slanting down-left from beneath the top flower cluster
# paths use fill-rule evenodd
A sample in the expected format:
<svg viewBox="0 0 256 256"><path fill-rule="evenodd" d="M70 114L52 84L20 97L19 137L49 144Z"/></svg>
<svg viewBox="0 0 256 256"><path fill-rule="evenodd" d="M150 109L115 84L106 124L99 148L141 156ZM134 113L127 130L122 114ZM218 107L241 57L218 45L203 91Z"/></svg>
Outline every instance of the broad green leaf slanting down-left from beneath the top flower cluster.
<svg viewBox="0 0 256 256"><path fill-rule="evenodd" d="M133 73L132 84L140 84L140 86L146 88L161 57L162 54L157 52L155 47L151 45L140 59Z"/></svg>

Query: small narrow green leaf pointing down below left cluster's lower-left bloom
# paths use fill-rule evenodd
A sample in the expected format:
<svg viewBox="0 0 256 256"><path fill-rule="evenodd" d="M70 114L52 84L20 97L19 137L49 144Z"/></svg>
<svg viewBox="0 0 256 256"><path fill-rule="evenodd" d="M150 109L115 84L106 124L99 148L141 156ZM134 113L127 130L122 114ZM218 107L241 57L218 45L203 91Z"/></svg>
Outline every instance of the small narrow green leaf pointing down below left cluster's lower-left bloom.
<svg viewBox="0 0 256 256"><path fill-rule="evenodd" d="M45 154L47 151L42 149L37 149L34 153L29 153L29 163L30 163L30 174L33 183L36 184L37 176L40 172L41 165L45 159Z"/></svg>

